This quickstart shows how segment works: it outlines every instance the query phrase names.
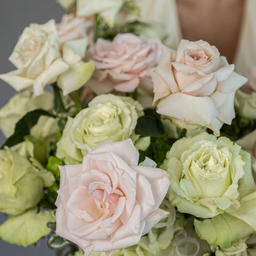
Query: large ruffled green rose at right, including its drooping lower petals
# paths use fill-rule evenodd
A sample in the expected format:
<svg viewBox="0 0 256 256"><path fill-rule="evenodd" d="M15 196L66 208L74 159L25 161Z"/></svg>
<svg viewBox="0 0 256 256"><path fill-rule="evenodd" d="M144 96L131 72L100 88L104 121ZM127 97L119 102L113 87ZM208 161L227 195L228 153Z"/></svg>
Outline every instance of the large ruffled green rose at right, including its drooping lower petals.
<svg viewBox="0 0 256 256"><path fill-rule="evenodd" d="M171 176L167 196L210 245L231 247L256 230L256 185L250 154L228 138L208 133L182 138L161 166Z"/></svg>

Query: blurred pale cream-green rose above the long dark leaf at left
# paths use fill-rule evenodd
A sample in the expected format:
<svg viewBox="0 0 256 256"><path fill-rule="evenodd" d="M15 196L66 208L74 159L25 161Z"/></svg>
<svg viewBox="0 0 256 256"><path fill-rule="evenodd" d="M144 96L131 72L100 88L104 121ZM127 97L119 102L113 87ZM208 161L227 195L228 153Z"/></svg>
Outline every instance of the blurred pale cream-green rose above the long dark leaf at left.
<svg viewBox="0 0 256 256"><path fill-rule="evenodd" d="M50 110L53 105L53 94L43 92L39 96L31 96L31 92L23 91L10 98L8 103L0 109L0 128L5 137L9 137L15 128L15 124L27 112L42 108Z"/></svg>

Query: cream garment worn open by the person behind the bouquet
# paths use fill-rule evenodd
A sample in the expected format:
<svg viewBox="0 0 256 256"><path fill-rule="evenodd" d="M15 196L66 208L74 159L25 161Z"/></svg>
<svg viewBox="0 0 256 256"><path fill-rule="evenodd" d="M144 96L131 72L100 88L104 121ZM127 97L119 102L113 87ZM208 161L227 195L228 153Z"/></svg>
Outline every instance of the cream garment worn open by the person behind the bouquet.
<svg viewBox="0 0 256 256"><path fill-rule="evenodd" d="M165 25L166 43L177 49L182 32L176 0L139 0L144 21L155 21ZM244 20L235 54L235 71L250 79L248 69L256 66L256 0L246 0Z"/></svg>

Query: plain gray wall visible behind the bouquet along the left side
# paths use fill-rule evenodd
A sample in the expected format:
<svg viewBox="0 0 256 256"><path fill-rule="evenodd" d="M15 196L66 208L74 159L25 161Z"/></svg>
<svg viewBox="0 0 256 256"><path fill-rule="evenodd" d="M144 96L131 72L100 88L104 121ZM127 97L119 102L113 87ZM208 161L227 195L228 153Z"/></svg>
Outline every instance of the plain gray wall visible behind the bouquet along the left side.
<svg viewBox="0 0 256 256"><path fill-rule="evenodd" d="M8 61L18 37L30 23L43 24L54 18L60 22L64 14L62 7L55 0L0 0L0 74L14 70ZM0 107L4 106L16 91L0 80ZM5 141L0 132L0 144ZM0 223L6 219L0 213ZM46 239L41 240L39 248L16 246L0 239L0 256L52 256L54 251L47 246Z"/></svg>

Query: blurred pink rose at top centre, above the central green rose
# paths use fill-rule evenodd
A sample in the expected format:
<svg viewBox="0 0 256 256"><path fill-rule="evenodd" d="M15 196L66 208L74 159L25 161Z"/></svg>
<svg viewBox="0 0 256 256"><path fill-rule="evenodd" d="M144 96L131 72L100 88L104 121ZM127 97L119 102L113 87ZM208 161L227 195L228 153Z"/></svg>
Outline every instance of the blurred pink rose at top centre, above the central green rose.
<svg viewBox="0 0 256 256"><path fill-rule="evenodd" d="M139 85L153 89L149 69L159 63L160 45L158 38L130 33L118 34L112 42L99 38L86 51L86 59L95 63L86 86L96 94L133 92Z"/></svg>

